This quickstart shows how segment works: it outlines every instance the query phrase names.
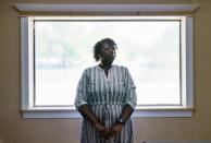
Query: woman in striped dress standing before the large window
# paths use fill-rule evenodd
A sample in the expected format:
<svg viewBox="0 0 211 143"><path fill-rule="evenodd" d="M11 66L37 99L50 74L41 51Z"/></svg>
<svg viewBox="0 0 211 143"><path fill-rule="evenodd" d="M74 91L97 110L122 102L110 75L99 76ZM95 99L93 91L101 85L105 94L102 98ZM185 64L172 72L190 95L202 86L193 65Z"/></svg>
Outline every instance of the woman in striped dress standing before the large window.
<svg viewBox="0 0 211 143"><path fill-rule="evenodd" d="M100 64L87 68L78 82L76 109L84 117L80 143L133 143L133 114L137 97L125 67L113 65L116 44L105 38L94 47Z"/></svg>

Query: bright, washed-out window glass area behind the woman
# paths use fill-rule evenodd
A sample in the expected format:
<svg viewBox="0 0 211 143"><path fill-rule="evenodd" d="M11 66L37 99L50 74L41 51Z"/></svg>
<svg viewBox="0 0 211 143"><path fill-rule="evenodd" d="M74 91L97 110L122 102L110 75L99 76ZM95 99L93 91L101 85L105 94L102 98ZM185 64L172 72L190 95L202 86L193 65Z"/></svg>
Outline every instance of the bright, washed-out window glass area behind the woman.
<svg viewBox="0 0 211 143"><path fill-rule="evenodd" d="M35 105L71 106L92 47L110 37L114 64L128 68L138 105L181 105L179 20L35 20Z"/></svg>

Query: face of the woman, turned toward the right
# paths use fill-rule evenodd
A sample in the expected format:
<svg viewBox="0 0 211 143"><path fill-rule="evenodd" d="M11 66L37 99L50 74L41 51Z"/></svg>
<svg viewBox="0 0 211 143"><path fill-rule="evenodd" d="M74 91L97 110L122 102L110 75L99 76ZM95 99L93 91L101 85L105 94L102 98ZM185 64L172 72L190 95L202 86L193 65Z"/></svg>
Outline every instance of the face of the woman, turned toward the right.
<svg viewBox="0 0 211 143"><path fill-rule="evenodd" d="M112 63L115 58L114 47L112 47L108 43L103 43L100 51L100 58L101 58L101 61L103 62Z"/></svg>

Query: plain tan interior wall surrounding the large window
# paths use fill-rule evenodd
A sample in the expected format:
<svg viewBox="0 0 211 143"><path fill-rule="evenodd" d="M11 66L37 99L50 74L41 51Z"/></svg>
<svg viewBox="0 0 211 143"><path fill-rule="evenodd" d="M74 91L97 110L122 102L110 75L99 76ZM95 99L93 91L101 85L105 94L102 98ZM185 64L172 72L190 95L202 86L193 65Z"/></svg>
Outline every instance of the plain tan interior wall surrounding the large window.
<svg viewBox="0 0 211 143"><path fill-rule="evenodd" d="M211 141L210 0L1 0L0 143L79 143L78 119L23 119L21 114L20 17L13 3L199 3L194 19L194 93L191 118L134 118L139 141Z"/></svg>

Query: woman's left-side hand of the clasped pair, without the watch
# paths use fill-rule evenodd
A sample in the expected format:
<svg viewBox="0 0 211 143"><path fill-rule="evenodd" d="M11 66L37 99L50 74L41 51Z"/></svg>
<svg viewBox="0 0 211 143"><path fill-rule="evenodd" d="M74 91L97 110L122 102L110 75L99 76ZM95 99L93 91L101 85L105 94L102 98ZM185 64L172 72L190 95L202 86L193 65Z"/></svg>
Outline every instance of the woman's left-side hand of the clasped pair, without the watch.
<svg viewBox="0 0 211 143"><path fill-rule="evenodd" d="M102 140L108 140L110 138L109 129L107 129L104 126L102 126L100 122L97 122L94 124L96 130L99 132L100 138Z"/></svg>

